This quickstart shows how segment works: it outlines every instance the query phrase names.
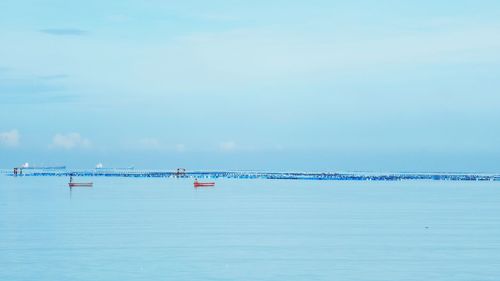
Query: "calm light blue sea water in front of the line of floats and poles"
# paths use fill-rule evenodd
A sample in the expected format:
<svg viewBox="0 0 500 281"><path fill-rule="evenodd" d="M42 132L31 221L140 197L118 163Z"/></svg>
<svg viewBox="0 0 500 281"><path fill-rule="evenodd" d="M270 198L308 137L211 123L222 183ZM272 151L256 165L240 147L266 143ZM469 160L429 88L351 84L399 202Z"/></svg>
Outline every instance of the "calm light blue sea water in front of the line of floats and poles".
<svg viewBox="0 0 500 281"><path fill-rule="evenodd" d="M0 280L500 280L500 182L90 180L0 175Z"/></svg>

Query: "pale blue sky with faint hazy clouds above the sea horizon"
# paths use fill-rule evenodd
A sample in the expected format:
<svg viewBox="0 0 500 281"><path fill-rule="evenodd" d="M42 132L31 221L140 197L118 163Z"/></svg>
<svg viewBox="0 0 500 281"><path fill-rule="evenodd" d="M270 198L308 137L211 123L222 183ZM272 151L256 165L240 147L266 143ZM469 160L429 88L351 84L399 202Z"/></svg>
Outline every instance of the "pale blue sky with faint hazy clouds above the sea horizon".
<svg viewBox="0 0 500 281"><path fill-rule="evenodd" d="M0 167L500 172L500 2L2 0Z"/></svg>

